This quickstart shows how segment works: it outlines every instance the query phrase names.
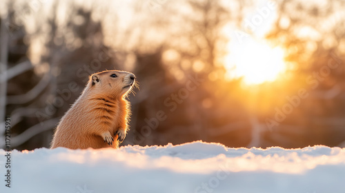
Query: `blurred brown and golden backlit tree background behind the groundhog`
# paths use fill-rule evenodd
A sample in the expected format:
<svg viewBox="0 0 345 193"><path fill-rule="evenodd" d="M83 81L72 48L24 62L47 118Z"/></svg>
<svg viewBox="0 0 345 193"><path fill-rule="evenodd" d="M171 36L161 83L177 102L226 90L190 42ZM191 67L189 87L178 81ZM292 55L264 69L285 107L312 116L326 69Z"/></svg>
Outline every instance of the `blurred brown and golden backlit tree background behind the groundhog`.
<svg viewBox="0 0 345 193"><path fill-rule="evenodd" d="M8 115L12 148L49 147L88 76L115 69L140 84L123 145L344 145L344 2L276 3L266 38L286 48L288 70L244 88L225 79L223 29L243 28L253 1L3 1L0 141Z"/></svg>

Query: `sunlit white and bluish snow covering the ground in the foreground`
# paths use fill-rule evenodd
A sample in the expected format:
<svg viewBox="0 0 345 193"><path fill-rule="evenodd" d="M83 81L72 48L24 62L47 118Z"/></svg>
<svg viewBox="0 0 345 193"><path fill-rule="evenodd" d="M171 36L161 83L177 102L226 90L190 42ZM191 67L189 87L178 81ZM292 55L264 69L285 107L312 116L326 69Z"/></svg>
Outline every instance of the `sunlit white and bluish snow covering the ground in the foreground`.
<svg viewBox="0 0 345 193"><path fill-rule="evenodd" d="M195 141L117 150L0 150L0 192L344 192L345 149L226 148Z"/></svg>

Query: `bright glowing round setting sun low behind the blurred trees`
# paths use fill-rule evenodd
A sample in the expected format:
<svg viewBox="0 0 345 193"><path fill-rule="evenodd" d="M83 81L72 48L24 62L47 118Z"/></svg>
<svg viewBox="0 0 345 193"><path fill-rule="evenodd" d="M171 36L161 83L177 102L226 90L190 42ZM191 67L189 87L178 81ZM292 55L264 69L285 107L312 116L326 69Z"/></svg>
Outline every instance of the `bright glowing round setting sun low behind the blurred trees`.
<svg viewBox="0 0 345 193"><path fill-rule="evenodd" d="M270 48L250 38L242 43L230 43L229 47L231 51L226 59L229 79L243 77L248 85L259 84L275 81L285 70L282 48Z"/></svg>

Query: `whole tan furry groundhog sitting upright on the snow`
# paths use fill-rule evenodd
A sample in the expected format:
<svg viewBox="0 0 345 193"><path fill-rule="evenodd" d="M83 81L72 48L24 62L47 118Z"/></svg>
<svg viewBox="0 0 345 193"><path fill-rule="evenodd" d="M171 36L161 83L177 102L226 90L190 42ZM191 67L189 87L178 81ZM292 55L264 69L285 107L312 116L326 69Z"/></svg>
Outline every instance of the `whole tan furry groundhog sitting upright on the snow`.
<svg viewBox="0 0 345 193"><path fill-rule="evenodd" d="M130 109L125 97L133 85L135 75L130 72L92 74L57 126L51 148L118 148L128 130Z"/></svg>

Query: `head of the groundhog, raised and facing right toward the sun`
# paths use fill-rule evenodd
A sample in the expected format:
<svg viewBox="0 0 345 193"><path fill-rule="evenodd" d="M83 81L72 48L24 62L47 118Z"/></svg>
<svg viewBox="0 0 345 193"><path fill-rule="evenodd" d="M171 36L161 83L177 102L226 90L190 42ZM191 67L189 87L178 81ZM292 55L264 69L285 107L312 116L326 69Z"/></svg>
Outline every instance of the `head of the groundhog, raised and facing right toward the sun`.
<svg viewBox="0 0 345 193"><path fill-rule="evenodd" d="M126 71L107 70L92 74L89 83L90 89L96 93L119 98L135 85L135 75Z"/></svg>

